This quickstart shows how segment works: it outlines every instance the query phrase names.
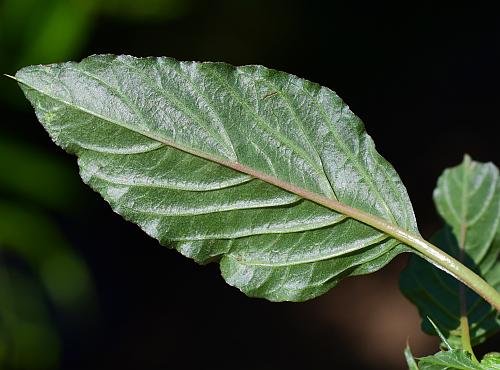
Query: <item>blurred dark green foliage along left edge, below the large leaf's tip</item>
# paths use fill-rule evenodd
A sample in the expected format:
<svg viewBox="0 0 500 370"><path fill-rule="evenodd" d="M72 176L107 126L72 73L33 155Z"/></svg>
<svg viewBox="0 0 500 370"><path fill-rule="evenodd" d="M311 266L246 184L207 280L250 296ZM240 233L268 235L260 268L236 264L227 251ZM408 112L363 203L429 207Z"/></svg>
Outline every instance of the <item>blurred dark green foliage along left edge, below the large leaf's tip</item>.
<svg viewBox="0 0 500 370"><path fill-rule="evenodd" d="M64 162L0 137L0 368L56 369L51 310L96 312L91 273L50 216L77 204L75 183Z"/></svg>

